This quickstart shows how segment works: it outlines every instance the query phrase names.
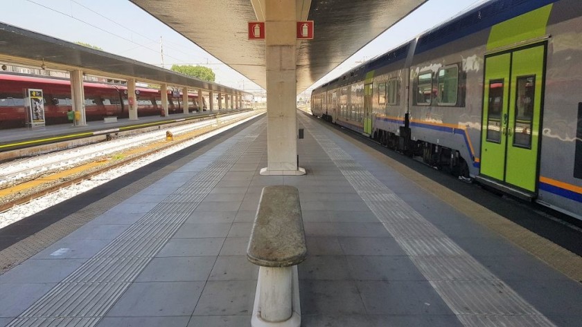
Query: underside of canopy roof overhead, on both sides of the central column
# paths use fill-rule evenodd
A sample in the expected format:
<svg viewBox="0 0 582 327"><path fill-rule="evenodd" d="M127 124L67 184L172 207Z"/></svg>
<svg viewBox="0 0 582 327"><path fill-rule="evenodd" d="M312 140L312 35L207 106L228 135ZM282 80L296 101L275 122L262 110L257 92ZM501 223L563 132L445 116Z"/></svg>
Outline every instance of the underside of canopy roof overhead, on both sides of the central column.
<svg viewBox="0 0 582 327"><path fill-rule="evenodd" d="M266 87L265 42L247 39L247 22L264 21L265 0L130 1ZM315 22L315 38L298 41L297 92L317 82L425 1L297 0L297 20Z"/></svg>

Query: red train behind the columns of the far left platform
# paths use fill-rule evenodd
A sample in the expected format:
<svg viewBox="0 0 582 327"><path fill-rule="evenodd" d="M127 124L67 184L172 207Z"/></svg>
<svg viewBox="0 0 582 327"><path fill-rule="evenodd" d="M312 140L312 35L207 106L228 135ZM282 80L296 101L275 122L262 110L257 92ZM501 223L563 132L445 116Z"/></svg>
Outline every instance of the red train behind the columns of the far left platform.
<svg viewBox="0 0 582 327"><path fill-rule="evenodd" d="M116 116L128 118L127 86L103 82L87 82L85 86L85 115L87 121L103 120ZM0 73L0 129L26 126L26 89L39 88L44 96L45 123L67 123L67 112L71 111L71 82L69 79L37 77L31 75ZM137 87L138 117L160 115L161 96L155 88ZM183 113L182 93L178 96L168 92L168 111ZM206 101L203 99L203 110ZM190 112L200 111L198 95L188 93Z"/></svg>

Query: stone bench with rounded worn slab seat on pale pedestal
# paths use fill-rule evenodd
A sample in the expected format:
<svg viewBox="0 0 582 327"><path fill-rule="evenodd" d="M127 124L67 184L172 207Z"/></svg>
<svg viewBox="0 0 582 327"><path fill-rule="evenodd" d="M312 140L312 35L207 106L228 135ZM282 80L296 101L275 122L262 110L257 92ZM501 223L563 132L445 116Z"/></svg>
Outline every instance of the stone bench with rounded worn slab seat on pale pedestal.
<svg viewBox="0 0 582 327"><path fill-rule="evenodd" d="M301 326L297 264L306 256L299 191L263 188L247 247L247 259L260 266L251 326Z"/></svg>

